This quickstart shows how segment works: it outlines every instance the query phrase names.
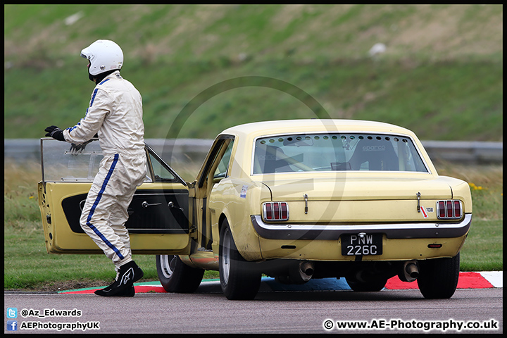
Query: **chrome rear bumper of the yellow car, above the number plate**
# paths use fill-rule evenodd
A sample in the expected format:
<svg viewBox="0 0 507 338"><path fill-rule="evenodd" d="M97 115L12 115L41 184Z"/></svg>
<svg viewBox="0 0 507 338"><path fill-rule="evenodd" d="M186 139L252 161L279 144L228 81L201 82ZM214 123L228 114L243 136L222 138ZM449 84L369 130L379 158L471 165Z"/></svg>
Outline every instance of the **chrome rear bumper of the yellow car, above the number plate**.
<svg viewBox="0 0 507 338"><path fill-rule="evenodd" d="M382 233L389 239L403 238L454 238L468 232L472 214L466 213L456 223L381 223L368 225L308 225L274 224L263 222L261 215L251 215L253 228L266 239L325 239L337 240L342 234L359 232Z"/></svg>

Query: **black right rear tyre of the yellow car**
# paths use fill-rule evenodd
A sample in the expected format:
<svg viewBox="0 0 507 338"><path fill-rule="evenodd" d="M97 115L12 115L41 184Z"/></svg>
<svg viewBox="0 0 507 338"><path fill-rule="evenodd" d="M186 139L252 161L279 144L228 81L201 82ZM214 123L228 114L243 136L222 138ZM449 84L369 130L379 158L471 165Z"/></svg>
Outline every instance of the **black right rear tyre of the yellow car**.
<svg viewBox="0 0 507 338"><path fill-rule="evenodd" d="M419 291L427 299L448 299L456 292L459 278L459 253L453 258L419 261Z"/></svg>

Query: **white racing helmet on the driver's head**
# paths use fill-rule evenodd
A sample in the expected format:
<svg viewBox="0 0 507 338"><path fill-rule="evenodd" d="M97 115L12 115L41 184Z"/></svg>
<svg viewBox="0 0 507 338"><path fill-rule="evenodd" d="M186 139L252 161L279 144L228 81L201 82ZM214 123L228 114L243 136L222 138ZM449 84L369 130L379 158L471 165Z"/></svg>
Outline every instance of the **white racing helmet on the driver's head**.
<svg viewBox="0 0 507 338"><path fill-rule="evenodd" d="M123 51L118 44L111 40L97 40L83 49L81 56L89 60L88 72L91 75L120 69L123 65Z"/></svg>

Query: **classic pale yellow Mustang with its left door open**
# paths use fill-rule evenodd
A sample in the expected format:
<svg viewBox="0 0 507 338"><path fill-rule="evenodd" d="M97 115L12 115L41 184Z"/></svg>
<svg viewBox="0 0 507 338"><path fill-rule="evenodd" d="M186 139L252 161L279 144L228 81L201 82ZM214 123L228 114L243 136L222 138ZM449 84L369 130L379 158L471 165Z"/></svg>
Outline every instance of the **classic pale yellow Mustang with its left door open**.
<svg viewBox="0 0 507 338"><path fill-rule="evenodd" d="M39 205L49 253L101 253L80 206L99 163L42 139ZM425 298L456 291L472 219L470 187L439 176L410 130L361 120L280 120L218 135L194 182L146 146L149 175L130 205L133 253L156 254L168 292L220 271L228 299L253 299L261 274L284 283L345 277L378 291L417 280ZM56 160L58 158L58 160Z"/></svg>

